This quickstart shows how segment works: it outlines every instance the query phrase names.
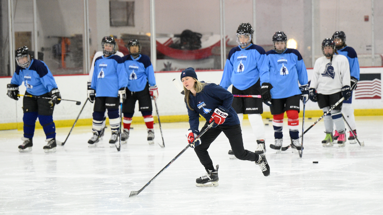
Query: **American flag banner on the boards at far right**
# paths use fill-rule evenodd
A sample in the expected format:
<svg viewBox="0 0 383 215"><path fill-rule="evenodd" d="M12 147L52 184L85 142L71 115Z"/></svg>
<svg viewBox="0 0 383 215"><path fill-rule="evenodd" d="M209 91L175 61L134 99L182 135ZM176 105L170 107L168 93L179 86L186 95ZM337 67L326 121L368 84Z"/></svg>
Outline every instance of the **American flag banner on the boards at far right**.
<svg viewBox="0 0 383 215"><path fill-rule="evenodd" d="M360 74L355 99L381 99L380 73Z"/></svg>

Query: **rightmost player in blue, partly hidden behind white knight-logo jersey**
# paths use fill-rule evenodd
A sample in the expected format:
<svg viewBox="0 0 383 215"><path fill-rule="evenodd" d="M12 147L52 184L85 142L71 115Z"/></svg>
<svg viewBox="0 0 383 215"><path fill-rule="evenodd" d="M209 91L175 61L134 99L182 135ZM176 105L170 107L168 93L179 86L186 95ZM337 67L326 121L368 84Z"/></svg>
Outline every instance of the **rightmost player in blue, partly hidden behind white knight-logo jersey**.
<svg viewBox="0 0 383 215"><path fill-rule="evenodd" d="M344 55L347 57L347 60L349 60L350 65L350 90L353 91L357 87L357 82L359 80L359 61L358 56L355 50L346 45L346 35L343 31L337 31L332 35L332 39L334 39L335 42L335 48L337 49L337 52L341 55ZM355 116L354 116L354 108L352 108L351 105L352 102L352 92L349 99L343 101L342 105L342 112L344 113L344 116L347 119L347 122L349 123L351 129L354 131L354 134L357 133L356 125L355 125ZM351 144L356 143L354 134L350 131L349 135L349 142ZM335 130L334 134L334 140L337 140L339 137L339 134L337 130Z"/></svg>

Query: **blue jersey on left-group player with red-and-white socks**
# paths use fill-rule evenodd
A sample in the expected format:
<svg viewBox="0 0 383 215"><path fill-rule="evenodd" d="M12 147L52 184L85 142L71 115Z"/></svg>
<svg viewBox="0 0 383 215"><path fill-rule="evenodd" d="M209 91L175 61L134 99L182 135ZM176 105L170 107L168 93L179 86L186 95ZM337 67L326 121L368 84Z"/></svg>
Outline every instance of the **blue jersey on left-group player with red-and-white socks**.
<svg viewBox="0 0 383 215"><path fill-rule="evenodd" d="M134 59L130 54L124 56L123 62L128 73L128 89L132 92L144 90L147 81L150 86L155 85L154 70L147 55L139 55Z"/></svg>

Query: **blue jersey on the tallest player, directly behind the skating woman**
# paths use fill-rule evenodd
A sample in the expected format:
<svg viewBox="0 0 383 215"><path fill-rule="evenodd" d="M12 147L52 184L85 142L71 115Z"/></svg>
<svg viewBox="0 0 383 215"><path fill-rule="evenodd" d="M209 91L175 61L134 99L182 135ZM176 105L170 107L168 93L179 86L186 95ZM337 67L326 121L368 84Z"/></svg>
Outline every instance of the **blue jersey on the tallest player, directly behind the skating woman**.
<svg viewBox="0 0 383 215"><path fill-rule="evenodd" d="M260 74L265 72L267 72L266 53L262 47L252 44L242 49L241 46L237 46L229 52L219 85L228 89L232 84L238 90L246 90L258 81Z"/></svg>

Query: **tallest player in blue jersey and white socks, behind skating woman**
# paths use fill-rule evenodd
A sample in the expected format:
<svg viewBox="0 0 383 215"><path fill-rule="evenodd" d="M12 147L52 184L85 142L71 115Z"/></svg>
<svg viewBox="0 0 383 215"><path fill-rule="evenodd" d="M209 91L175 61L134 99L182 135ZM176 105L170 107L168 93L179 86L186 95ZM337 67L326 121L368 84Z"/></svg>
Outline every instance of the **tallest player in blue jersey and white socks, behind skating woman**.
<svg viewBox="0 0 383 215"><path fill-rule="evenodd" d="M254 30L250 23L241 23L237 29L237 43L239 46L230 50L219 83L224 89L232 84L232 93L239 95L260 95L260 73L267 72L265 50L253 44ZM242 124L243 114L248 114L250 125L257 141L255 153L266 152L265 127L262 121L262 99L234 97L232 107L237 112ZM229 155L234 155L229 151Z"/></svg>

